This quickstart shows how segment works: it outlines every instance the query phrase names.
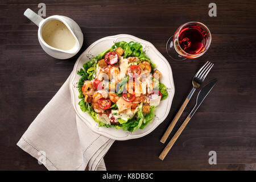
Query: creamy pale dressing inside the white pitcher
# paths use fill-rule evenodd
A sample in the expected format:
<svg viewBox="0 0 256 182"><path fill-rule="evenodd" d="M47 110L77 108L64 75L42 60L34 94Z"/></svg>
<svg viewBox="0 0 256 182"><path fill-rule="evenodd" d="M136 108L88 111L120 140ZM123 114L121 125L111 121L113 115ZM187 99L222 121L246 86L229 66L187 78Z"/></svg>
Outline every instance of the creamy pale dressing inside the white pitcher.
<svg viewBox="0 0 256 182"><path fill-rule="evenodd" d="M76 44L76 39L60 20L49 20L42 28L44 41L51 47L67 51Z"/></svg>

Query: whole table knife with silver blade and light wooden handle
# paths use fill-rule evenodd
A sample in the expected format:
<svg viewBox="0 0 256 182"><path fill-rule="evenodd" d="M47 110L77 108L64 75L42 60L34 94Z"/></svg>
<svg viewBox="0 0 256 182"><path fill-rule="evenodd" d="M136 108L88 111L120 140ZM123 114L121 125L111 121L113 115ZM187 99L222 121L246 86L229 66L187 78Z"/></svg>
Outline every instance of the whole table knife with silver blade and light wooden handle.
<svg viewBox="0 0 256 182"><path fill-rule="evenodd" d="M159 155L159 159L164 160L164 158L166 157L166 155L168 154L168 152L171 150L172 146L176 142L177 138L179 138L181 132L184 130L185 126L187 126L189 120L193 117L196 110L202 104L205 97L207 97L208 93L210 92L210 90L212 90L212 88L216 84L216 82L217 82L217 79L214 79L214 80L210 81L207 85L205 85L203 89L200 90L200 92L198 93L197 98L196 98L195 107L192 109L191 113L189 113L188 117L185 119L183 124L180 126L179 130L177 130L174 137L172 137L171 141L167 144L166 148L164 148L162 153Z"/></svg>

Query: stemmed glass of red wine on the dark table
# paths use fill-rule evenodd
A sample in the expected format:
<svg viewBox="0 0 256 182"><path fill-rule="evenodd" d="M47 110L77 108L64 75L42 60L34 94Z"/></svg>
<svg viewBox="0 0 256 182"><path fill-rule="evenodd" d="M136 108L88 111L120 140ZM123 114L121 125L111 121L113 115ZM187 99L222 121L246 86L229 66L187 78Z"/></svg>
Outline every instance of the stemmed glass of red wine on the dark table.
<svg viewBox="0 0 256 182"><path fill-rule="evenodd" d="M203 55L209 48L212 36L203 23L182 24L166 43L168 55L176 61L193 59Z"/></svg>

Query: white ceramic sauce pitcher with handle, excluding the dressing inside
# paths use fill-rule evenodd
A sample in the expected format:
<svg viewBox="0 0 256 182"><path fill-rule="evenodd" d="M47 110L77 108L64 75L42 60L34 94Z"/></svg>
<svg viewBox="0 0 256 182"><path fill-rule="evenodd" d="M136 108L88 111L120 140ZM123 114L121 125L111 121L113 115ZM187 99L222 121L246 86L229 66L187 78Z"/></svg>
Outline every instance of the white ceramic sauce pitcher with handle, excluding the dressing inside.
<svg viewBox="0 0 256 182"><path fill-rule="evenodd" d="M55 57L57 59L68 59L72 56L75 56L76 53L79 52L79 50L81 49L82 42L84 41L84 36L82 35L82 31L79 25L71 18L68 18L67 16L53 15L49 16L46 19L43 19L41 16L39 16L30 9L27 9L24 12L24 15L39 27L38 40L41 47L44 49L46 53L48 53L48 55ZM49 22L49 20L59 20L60 22L64 23L65 27L68 28L70 33L73 35L73 38L75 39L71 49L60 49L52 47L46 43L46 41L43 39L42 29L46 25L46 23ZM70 33L68 32L68 34Z"/></svg>

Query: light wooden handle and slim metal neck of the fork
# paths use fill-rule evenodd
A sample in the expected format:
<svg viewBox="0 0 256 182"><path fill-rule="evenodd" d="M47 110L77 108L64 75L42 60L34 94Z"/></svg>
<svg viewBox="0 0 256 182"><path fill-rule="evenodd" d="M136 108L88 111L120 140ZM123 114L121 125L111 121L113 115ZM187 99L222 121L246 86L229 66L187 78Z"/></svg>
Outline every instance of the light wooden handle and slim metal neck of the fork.
<svg viewBox="0 0 256 182"><path fill-rule="evenodd" d="M188 97L186 98L186 100L183 102L183 105L180 107L179 111L177 112L177 114L175 115L174 119L172 120L171 124L168 126L166 132L163 134L163 137L160 139L160 142L164 143L166 142L167 138L169 137L172 129L174 129L174 126L176 125L177 121L180 118L180 115L183 113L185 107L187 106L191 96L193 95L193 93L195 92L196 88L193 88L191 90L191 92L188 94Z"/></svg>

